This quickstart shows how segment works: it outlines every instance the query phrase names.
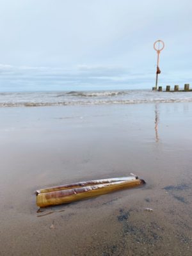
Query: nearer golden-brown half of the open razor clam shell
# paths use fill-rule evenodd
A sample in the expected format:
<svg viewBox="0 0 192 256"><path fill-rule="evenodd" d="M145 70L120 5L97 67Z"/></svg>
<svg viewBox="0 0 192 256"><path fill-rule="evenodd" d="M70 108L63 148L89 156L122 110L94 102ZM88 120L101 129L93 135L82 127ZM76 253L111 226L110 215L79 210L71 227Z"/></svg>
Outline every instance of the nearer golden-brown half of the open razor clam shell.
<svg viewBox="0 0 192 256"><path fill-rule="evenodd" d="M145 181L141 179L133 179L106 184L97 184L93 186L84 186L82 188L72 188L47 193L39 193L36 195L36 205L39 207L46 207L49 205L67 204L93 196L104 195L119 189L140 186L141 184L145 184Z"/></svg>

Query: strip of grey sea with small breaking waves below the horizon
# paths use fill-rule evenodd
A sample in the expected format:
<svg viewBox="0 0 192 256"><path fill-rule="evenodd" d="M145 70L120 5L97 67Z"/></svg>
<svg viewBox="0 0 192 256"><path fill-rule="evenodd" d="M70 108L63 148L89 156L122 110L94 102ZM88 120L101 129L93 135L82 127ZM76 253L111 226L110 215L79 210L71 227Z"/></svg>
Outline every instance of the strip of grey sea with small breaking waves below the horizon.
<svg viewBox="0 0 192 256"><path fill-rule="evenodd" d="M0 107L39 107L140 104L153 102L192 102L192 92L152 90L104 90L79 92L0 93Z"/></svg>

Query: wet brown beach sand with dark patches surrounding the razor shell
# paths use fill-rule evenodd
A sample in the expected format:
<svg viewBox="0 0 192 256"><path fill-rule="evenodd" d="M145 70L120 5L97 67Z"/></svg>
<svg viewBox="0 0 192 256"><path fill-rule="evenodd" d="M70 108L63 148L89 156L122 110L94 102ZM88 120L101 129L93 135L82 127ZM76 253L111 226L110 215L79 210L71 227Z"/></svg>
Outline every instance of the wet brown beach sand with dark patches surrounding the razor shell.
<svg viewBox="0 0 192 256"><path fill-rule="evenodd" d="M191 103L0 116L0 255L191 255ZM129 173L147 184L37 212L36 189Z"/></svg>

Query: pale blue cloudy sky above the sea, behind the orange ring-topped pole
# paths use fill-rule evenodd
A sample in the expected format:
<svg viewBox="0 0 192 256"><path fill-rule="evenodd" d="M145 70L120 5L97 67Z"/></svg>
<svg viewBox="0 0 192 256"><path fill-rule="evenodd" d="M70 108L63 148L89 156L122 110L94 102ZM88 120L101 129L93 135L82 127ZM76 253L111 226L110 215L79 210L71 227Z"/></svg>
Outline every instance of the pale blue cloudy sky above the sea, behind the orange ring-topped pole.
<svg viewBox="0 0 192 256"><path fill-rule="evenodd" d="M0 92L192 82L191 0L0 0Z"/></svg>

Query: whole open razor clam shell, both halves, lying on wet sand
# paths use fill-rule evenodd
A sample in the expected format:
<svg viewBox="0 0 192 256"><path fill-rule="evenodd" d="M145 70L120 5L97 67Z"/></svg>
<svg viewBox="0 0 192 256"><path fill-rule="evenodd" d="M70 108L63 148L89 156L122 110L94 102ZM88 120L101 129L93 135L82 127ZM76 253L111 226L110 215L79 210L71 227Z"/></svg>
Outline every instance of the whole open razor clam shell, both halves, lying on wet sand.
<svg viewBox="0 0 192 256"><path fill-rule="evenodd" d="M92 180L91 182L88 181L71 184L71 186L69 184L41 189L36 193L36 205L39 207L46 207L49 205L68 204L77 200L104 195L120 189L133 188L140 186L141 184L145 184L145 181L138 179L138 177L131 177L132 179L129 178L130 177L108 179L108 182L106 179L104 182L102 180L101 183L99 183L99 180L95 180L95 183L94 180ZM55 190L56 188L59 189Z"/></svg>

